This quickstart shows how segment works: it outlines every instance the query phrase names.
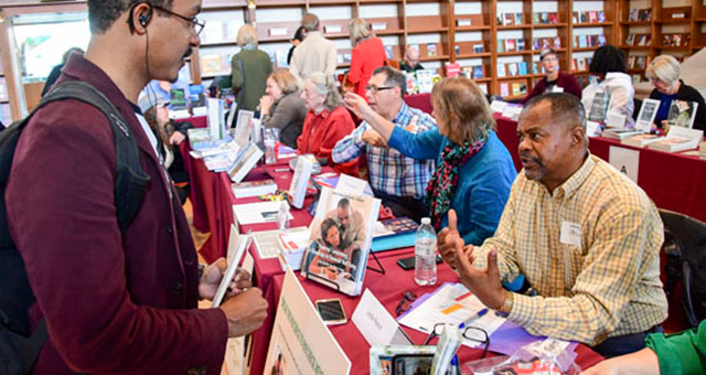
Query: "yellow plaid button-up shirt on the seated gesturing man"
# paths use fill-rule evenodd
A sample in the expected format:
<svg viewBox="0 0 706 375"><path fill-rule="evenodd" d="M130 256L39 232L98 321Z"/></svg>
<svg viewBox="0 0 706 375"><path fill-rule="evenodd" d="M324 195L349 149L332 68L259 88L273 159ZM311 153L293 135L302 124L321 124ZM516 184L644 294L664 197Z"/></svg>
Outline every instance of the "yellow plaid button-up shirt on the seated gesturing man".
<svg viewBox="0 0 706 375"><path fill-rule="evenodd" d="M561 239L563 226L565 235L574 227L574 236ZM474 266L485 267L495 247L502 280L524 274L538 292L513 296L511 321L535 335L596 345L666 319L663 237L642 189L589 156L553 194L517 175L495 236L474 250Z"/></svg>

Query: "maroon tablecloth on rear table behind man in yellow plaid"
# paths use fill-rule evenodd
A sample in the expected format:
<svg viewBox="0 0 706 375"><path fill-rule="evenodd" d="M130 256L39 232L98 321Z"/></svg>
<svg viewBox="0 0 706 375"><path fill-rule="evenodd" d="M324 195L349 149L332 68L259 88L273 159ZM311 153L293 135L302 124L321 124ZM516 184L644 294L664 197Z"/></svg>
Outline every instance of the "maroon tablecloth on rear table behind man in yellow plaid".
<svg viewBox="0 0 706 375"><path fill-rule="evenodd" d="M517 122L495 116L498 137L503 141L515 168L522 165L517 156ZM706 222L706 160L680 153L621 144L619 140L591 137L588 147L592 154L608 161L610 147L640 151L638 185L660 208L675 211Z"/></svg>

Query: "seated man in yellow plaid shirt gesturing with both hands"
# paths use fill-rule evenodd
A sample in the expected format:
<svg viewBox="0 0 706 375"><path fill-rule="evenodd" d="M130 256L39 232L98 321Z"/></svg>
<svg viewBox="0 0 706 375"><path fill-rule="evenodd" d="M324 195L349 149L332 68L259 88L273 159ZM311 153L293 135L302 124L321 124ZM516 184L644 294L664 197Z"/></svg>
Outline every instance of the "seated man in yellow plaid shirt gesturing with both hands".
<svg viewBox="0 0 706 375"><path fill-rule="evenodd" d="M481 302L534 335L582 342L603 356L641 350L667 315L657 208L588 152L586 113L575 96L532 98L517 136L523 170L495 235L463 246L449 212L439 253ZM536 296L502 288L520 274Z"/></svg>

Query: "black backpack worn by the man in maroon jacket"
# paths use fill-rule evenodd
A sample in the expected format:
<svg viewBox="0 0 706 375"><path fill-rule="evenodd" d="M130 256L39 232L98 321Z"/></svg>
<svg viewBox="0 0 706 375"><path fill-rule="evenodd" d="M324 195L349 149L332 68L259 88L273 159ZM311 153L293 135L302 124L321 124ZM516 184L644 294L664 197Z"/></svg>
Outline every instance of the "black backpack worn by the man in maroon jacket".
<svg viewBox="0 0 706 375"><path fill-rule="evenodd" d="M46 341L44 319L31 330L28 310L35 301L26 270L8 228L4 193L18 140L32 115L49 103L74 99L100 110L110 121L116 150L115 205L125 233L142 204L149 175L140 165L137 142L115 106L92 85L81 81L54 87L23 119L0 132L0 375L28 374Z"/></svg>

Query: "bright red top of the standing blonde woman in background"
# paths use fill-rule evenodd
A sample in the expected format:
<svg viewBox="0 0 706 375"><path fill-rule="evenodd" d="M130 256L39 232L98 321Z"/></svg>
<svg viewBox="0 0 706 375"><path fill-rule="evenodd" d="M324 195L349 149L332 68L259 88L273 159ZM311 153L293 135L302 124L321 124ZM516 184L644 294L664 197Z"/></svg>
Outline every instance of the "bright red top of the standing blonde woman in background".
<svg viewBox="0 0 706 375"><path fill-rule="evenodd" d="M360 42L351 53L349 83L354 85L354 93L365 97L365 86L373 72L385 64L385 47L379 38L370 38Z"/></svg>

